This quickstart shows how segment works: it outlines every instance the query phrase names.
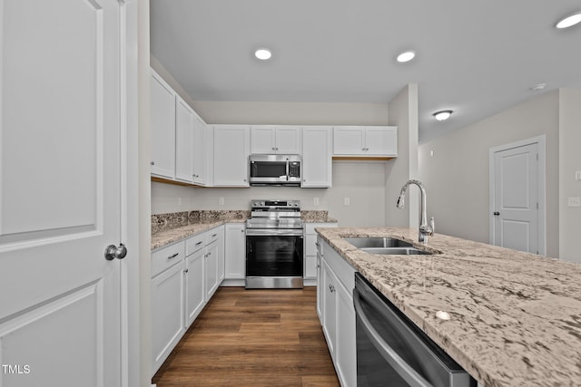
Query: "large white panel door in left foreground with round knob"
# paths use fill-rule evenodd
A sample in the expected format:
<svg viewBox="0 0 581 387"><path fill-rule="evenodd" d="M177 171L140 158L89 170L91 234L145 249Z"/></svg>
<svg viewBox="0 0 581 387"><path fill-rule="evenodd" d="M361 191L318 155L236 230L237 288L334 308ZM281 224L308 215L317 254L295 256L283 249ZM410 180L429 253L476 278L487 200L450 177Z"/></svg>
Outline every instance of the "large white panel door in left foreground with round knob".
<svg viewBox="0 0 581 387"><path fill-rule="evenodd" d="M119 3L0 10L0 385L118 386Z"/></svg>

